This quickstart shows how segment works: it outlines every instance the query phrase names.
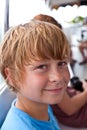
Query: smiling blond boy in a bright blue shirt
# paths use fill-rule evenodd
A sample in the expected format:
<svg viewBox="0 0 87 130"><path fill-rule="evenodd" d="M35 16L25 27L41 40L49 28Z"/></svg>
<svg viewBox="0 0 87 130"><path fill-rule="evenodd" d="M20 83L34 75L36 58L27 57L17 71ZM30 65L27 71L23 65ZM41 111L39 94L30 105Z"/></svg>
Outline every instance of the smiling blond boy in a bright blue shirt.
<svg viewBox="0 0 87 130"><path fill-rule="evenodd" d="M0 70L17 99L1 130L59 130L49 104L62 100L70 79L68 45L60 29L37 20L7 32Z"/></svg>

